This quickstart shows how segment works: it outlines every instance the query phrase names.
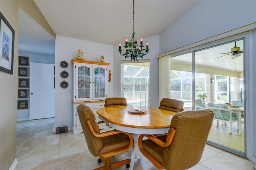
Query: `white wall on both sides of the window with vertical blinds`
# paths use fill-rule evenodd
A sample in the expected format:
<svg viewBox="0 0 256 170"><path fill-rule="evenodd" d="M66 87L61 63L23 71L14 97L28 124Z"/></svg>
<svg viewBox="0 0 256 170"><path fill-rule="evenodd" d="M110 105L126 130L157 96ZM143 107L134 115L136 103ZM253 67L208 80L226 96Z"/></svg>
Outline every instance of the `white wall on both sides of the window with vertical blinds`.
<svg viewBox="0 0 256 170"><path fill-rule="evenodd" d="M150 29L150 28L149 28ZM159 107L159 94L158 94L158 59L156 55L159 54L159 35L152 36L148 38L143 38L143 42L148 42L149 52L147 55L144 55L144 59L151 58L150 63L150 107ZM121 42L122 43L122 42ZM117 43L118 44L118 43ZM122 47L124 48L124 47ZM114 46L114 71L112 72L113 88L113 97L120 97L120 59L124 59L124 56L120 55L118 52L119 46ZM124 50L124 49L123 49Z"/></svg>

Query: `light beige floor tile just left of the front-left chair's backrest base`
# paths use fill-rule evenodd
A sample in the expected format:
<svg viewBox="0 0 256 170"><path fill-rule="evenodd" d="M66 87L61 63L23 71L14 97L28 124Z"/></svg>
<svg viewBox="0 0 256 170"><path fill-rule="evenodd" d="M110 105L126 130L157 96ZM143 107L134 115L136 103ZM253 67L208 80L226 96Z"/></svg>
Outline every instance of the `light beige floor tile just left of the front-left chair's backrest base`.
<svg viewBox="0 0 256 170"><path fill-rule="evenodd" d="M77 154L88 150L89 149L84 139L60 143L60 157Z"/></svg>

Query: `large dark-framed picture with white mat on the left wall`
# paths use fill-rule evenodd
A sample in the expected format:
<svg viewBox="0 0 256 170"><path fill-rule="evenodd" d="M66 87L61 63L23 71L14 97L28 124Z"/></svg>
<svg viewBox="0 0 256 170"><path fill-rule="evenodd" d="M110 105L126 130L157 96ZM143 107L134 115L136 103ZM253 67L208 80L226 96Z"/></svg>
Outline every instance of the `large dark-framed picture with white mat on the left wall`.
<svg viewBox="0 0 256 170"><path fill-rule="evenodd" d="M0 12L0 71L13 74L14 29Z"/></svg>

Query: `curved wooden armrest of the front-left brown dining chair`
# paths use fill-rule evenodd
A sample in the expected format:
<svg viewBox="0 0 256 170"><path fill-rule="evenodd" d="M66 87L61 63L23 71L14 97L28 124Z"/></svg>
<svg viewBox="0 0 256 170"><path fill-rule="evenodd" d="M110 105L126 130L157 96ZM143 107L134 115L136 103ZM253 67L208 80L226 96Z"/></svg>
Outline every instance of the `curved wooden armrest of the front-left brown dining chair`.
<svg viewBox="0 0 256 170"><path fill-rule="evenodd" d="M122 132L122 131L119 131L119 130L112 130L112 131L108 131L108 132L98 134L93 130L92 124L90 123L89 120L87 121L87 124L88 124L88 127L90 128L90 131L92 132L93 136L95 136L96 138L102 138L102 137L105 137L105 136L111 136L113 134L120 134L120 133L126 134L129 137L130 142L129 142L128 146L126 146L125 148L122 148L122 149L118 149L118 150L115 150L115 151L112 151L112 152L108 152L106 154L101 154L100 158L108 158L110 156L114 156L116 154L126 152L130 148L132 148L132 146L134 146L134 140L133 140L132 136L130 135L130 133Z"/></svg>

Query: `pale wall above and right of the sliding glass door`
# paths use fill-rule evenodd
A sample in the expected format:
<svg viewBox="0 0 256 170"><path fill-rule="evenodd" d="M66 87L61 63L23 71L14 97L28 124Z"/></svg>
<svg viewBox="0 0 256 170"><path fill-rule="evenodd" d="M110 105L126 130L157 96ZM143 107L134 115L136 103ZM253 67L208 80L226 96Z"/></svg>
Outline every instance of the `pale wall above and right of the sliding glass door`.
<svg viewBox="0 0 256 170"><path fill-rule="evenodd" d="M160 53L198 42L224 32L256 22L256 1L200 1L194 8L160 34ZM247 157L256 162L256 94L255 42L256 31L251 31L246 53L246 131ZM248 46L247 46L248 47ZM252 131L254 130L254 131Z"/></svg>

